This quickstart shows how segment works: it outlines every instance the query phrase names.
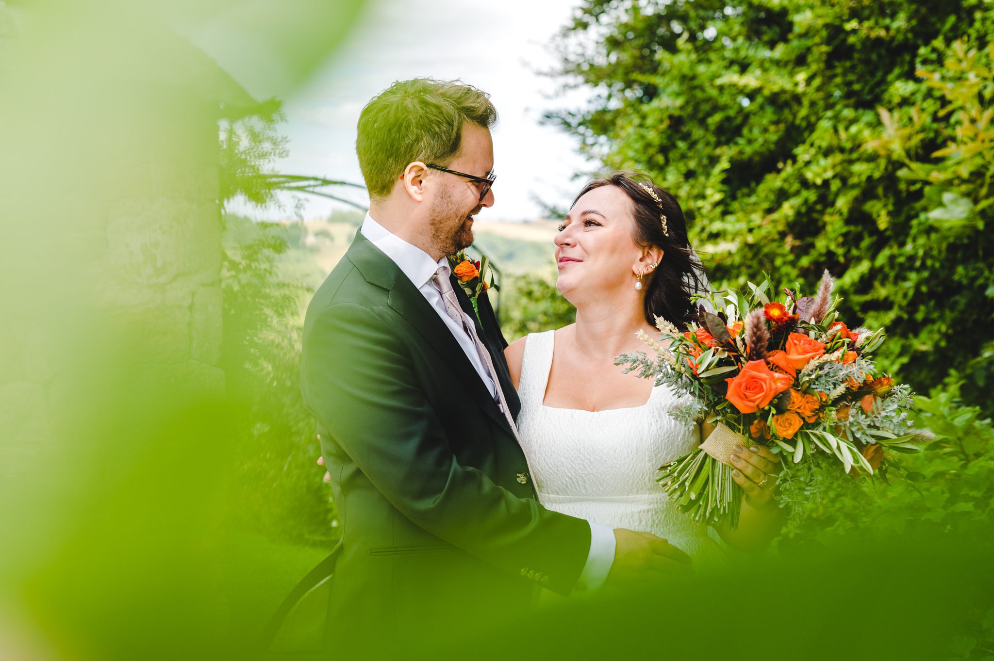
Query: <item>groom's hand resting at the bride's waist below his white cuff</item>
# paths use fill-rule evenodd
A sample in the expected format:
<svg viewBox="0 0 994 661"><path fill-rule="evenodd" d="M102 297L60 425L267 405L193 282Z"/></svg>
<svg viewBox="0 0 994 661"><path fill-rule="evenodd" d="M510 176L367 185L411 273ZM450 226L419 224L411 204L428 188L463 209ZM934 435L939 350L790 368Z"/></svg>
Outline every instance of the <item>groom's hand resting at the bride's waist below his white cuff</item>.
<svg viewBox="0 0 994 661"><path fill-rule="evenodd" d="M691 559L665 539L626 528L614 530L614 564L604 586L637 588L647 578L686 575Z"/></svg>

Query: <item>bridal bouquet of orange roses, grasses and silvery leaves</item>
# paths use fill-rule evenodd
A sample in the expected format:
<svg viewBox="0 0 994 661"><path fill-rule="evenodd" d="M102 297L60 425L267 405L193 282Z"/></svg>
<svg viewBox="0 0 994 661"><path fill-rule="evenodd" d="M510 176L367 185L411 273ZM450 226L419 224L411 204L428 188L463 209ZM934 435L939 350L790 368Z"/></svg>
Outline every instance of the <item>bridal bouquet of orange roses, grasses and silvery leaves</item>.
<svg viewBox="0 0 994 661"><path fill-rule="evenodd" d="M700 448L661 466L657 477L696 521L738 526L743 490L729 463L736 444L781 453L784 473L835 465L839 477L885 480L888 465L898 466L893 453L917 451L911 388L874 364L883 330L850 330L835 312L832 285L825 271L814 297L784 289L782 302L770 301L768 278L748 283L747 291L699 297L716 312L702 306L700 324L687 331L656 318L663 341L639 331L656 357L636 351L615 360L626 373L638 369L656 385L692 395L671 413L678 420L717 425Z"/></svg>

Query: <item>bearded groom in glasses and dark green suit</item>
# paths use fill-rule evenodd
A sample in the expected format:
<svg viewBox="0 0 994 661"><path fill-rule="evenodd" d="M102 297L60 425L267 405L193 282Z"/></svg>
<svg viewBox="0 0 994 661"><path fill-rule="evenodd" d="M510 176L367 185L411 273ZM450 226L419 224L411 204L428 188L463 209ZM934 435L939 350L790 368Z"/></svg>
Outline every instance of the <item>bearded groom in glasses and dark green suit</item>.
<svg viewBox="0 0 994 661"><path fill-rule="evenodd" d="M465 633L521 613L536 586L569 595L687 561L536 500L507 343L445 258L493 204L495 121L486 93L431 79L359 119L370 211L307 309L302 359L342 524L325 629L339 650Z"/></svg>

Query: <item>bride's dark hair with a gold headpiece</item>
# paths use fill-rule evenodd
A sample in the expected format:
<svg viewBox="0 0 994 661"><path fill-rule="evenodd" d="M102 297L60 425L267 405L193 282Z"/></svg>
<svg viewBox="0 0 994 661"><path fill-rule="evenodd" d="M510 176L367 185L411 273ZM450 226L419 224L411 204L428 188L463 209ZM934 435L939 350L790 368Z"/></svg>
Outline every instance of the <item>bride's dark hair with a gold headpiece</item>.
<svg viewBox="0 0 994 661"><path fill-rule="evenodd" d="M649 187L658 196L663 207L659 208L659 202L640 185ZM691 302L691 296L706 291L707 280L704 267L687 238L687 222L676 198L656 186L647 175L615 172L584 186L573 203L576 204L588 192L602 186L616 186L631 199L635 243L643 247L655 245L663 249L663 259L652 273L647 274L644 285L645 321L650 326L655 326L656 317L662 317L677 327L697 321L697 309ZM666 215L666 234L663 233L660 214Z"/></svg>

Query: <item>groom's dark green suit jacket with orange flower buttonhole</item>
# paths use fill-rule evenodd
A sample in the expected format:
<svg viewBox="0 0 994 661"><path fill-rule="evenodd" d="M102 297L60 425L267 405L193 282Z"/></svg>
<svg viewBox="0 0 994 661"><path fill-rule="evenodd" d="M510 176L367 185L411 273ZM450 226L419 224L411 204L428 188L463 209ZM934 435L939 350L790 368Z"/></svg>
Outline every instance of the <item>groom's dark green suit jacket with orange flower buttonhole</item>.
<svg viewBox="0 0 994 661"><path fill-rule="evenodd" d="M517 414L506 341L487 297L478 304L477 332ZM302 389L342 526L332 645L488 626L520 614L536 584L571 592L589 525L538 503L524 454L472 363L361 233L307 309Z"/></svg>

